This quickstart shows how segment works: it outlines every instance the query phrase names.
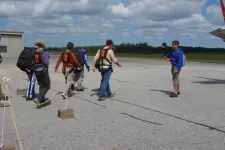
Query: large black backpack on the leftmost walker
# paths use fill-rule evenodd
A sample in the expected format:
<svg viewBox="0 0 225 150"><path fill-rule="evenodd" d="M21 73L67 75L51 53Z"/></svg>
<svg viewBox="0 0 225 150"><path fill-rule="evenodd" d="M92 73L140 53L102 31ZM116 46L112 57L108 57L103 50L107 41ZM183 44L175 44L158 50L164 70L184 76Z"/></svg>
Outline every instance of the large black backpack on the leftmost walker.
<svg viewBox="0 0 225 150"><path fill-rule="evenodd" d="M22 71L34 68L34 53L35 48L25 48L20 53L16 66Z"/></svg>

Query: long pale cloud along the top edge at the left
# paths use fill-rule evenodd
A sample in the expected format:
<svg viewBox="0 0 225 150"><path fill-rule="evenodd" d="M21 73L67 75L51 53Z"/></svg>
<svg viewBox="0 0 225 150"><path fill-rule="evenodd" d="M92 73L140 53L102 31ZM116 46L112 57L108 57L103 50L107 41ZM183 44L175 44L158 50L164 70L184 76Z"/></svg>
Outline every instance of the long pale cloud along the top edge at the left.
<svg viewBox="0 0 225 150"><path fill-rule="evenodd" d="M105 0L17 0L0 1L0 16L43 17L52 14L98 14Z"/></svg>

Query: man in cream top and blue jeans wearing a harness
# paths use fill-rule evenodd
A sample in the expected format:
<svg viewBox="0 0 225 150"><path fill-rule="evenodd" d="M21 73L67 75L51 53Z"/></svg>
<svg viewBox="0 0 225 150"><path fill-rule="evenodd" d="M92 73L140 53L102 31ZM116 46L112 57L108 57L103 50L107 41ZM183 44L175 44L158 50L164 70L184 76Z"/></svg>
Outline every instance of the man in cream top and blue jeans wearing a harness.
<svg viewBox="0 0 225 150"><path fill-rule="evenodd" d="M99 101L105 100L104 95L105 91L107 92L107 95L109 97L113 97L115 93L111 92L109 80L110 76L113 72L112 68L112 62L114 62L117 66L121 67L121 65L118 63L117 59L114 56L114 52L112 50L113 48L113 41L107 40L106 46L103 49L98 50L97 54L94 57L93 61L93 72L95 72L96 68L96 62L100 62L100 72L102 75L102 86L100 88L100 91L98 93Z"/></svg>

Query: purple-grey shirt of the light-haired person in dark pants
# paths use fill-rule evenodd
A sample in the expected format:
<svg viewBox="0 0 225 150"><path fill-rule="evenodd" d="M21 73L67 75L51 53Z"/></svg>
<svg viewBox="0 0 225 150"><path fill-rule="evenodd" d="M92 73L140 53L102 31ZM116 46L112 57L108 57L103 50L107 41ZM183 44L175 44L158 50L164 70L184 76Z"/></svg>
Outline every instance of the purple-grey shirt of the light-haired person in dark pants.
<svg viewBox="0 0 225 150"><path fill-rule="evenodd" d="M36 52L40 53L41 50L36 49ZM41 62L42 62L42 64L36 64L36 67L37 67L36 71L43 71L44 70L44 66L46 66L46 67L49 66L49 54L48 54L47 51L42 53L42 55L41 55Z"/></svg>

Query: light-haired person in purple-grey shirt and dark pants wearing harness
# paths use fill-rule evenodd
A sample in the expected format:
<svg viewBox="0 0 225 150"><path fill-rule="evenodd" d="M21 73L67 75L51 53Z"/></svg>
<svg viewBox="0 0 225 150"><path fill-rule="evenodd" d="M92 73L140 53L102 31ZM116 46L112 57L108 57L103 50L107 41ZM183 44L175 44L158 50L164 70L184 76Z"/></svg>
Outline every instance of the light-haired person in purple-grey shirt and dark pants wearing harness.
<svg viewBox="0 0 225 150"><path fill-rule="evenodd" d="M36 104L46 102L48 99L45 98L48 90L51 86L49 77L49 53L45 51L45 42L38 40L36 42L36 51L34 53L34 64L35 64L35 75L39 84L39 94L33 101Z"/></svg>

